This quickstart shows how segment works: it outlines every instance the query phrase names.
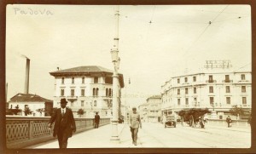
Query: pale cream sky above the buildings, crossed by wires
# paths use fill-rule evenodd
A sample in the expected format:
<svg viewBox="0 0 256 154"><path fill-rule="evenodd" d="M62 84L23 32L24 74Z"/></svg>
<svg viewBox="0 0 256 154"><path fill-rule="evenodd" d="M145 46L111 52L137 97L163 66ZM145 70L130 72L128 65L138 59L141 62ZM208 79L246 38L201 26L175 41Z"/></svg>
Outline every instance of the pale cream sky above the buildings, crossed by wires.
<svg viewBox="0 0 256 154"><path fill-rule="evenodd" d="M57 67L113 70L114 7L9 4L8 100L24 93L26 58L21 55L31 60L29 93L46 99L53 99L55 78L49 72ZM232 71L252 65L249 5L121 5L119 14L123 103L145 103L171 77L204 71L206 60L230 60Z"/></svg>

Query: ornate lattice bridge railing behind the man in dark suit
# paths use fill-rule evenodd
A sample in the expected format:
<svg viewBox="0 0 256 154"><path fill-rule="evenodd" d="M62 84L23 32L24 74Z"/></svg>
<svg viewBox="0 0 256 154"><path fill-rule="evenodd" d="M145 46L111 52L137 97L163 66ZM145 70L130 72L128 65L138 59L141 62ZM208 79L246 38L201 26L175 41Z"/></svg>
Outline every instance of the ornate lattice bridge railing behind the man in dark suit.
<svg viewBox="0 0 256 154"><path fill-rule="evenodd" d="M9 149L23 148L48 140L55 140L53 128L48 128L49 117L6 116L6 145ZM93 118L75 118L77 131L94 128ZM101 118L100 126L110 123L110 118Z"/></svg>

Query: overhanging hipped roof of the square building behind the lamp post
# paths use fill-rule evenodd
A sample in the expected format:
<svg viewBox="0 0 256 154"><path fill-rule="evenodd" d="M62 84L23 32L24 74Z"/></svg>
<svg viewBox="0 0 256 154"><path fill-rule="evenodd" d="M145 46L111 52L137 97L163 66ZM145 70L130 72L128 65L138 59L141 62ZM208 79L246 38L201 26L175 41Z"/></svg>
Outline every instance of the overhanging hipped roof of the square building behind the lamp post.
<svg viewBox="0 0 256 154"><path fill-rule="evenodd" d="M77 74L90 75L91 73L106 73L106 74L112 75L113 71L109 70L108 68L104 68L102 66L79 66L79 67L73 67L65 70L49 72L49 74L54 77L63 76L63 75L77 75ZM119 74L119 83L121 88L125 87L123 74Z"/></svg>

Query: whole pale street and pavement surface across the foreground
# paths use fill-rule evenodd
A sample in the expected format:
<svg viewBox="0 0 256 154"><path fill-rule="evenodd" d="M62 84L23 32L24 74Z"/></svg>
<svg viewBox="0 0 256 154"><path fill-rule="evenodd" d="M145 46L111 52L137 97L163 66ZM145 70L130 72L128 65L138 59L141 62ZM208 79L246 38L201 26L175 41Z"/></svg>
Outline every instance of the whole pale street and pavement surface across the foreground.
<svg viewBox="0 0 256 154"><path fill-rule="evenodd" d="M188 125L177 128L164 128L160 123L143 123L139 128L137 145L131 143L131 132L128 124L119 124L119 144L110 142L111 124L74 134L68 140L67 148L249 148L251 145L250 128L226 128L210 126L190 128ZM57 140L26 147L58 148Z"/></svg>

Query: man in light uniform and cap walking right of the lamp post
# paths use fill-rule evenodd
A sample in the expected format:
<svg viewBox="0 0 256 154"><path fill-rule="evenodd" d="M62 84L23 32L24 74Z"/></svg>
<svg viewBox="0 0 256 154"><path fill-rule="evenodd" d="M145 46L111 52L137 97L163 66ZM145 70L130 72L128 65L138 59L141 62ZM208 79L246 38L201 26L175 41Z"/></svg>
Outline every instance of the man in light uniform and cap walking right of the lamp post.
<svg viewBox="0 0 256 154"><path fill-rule="evenodd" d="M132 144L137 145L137 132L138 128L142 128L142 122L140 115L137 113L136 107L132 107L132 113L130 114L129 117Z"/></svg>

